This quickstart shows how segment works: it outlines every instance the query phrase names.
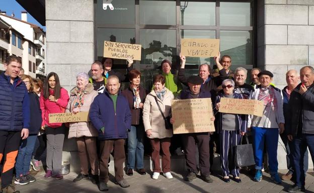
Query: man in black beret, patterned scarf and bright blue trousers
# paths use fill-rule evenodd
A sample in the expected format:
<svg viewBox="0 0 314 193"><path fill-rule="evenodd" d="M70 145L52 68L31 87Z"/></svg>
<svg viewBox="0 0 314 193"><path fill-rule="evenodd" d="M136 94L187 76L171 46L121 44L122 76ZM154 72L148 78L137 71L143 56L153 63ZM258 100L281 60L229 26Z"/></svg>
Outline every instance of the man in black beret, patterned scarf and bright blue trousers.
<svg viewBox="0 0 314 193"><path fill-rule="evenodd" d="M255 181L262 180L262 163L264 143L266 143L267 153L269 156L268 164L271 179L275 183L281 183L278 175L278 134L284 131L283 116L283 96L280 89L270 85L273 80L273 73L264 70L258 74L260 85L253 92L251 99L263 101L263 116L251 115L248 127L252 127L252 135L254 138L254 159L255 159Z"/></svg>

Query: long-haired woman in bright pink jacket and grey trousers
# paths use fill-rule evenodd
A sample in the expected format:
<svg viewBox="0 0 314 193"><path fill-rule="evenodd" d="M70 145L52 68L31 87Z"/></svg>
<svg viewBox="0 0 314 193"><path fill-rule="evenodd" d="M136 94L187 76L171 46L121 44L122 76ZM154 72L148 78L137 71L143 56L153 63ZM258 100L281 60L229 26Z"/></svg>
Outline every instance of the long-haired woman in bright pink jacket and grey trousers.
<svg viewBox="0 0 314 193"><path fill-rule="evenodd" d="M41 128L45 130L47 135L47 172L45 177L63 178L60 171L65 128L62 123L49 123L49 114L64 113L68 101L67 90L60 86L58 75L55 72L50 72L39 98L43 120Z"/></svg>

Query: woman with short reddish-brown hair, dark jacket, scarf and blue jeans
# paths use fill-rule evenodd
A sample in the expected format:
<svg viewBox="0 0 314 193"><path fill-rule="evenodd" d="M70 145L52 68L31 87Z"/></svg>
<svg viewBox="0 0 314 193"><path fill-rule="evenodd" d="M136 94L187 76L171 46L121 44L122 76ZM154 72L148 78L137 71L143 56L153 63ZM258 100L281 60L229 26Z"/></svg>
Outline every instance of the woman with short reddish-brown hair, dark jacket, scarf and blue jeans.
<svg viewBox="0 0 314 193"><path fill-rule="evenodd" d="M128 165L127 175L133 175L133 169L141 175L145 175L144 169L144 129L142 121L143 103L146 98L145 89L142 88L140 83L141 73L133 69L129 72L128 77L130 79L130 86L122 91L122 95L125 96L129 103L130 111L132 114L131 129L127 132L128 135Z"/></svg>

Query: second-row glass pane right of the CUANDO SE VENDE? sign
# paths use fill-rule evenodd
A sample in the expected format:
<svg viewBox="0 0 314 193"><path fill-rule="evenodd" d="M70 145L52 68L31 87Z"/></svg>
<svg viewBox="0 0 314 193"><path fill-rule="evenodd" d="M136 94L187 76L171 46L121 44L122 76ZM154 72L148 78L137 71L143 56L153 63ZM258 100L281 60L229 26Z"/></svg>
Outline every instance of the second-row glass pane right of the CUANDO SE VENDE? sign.
<svg viewBox="0 0 314 193"><path fill-rule="evenodd" d="M252 31L220 31L220 54L231 57L231 69L253 65L252 40Z"/></svg>

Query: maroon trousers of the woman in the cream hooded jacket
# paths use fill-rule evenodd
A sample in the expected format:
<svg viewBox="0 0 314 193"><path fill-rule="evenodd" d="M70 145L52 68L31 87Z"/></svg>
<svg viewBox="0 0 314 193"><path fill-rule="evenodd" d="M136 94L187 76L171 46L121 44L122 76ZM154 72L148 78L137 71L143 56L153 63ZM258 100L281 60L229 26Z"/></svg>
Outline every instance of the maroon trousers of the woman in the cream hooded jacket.
<svg viewBox="0 0 314 193"><path fill-rule="evenodd" d="M150 139L150 144L151 144L151 159L154 164L154 169L153 172L161 172L161 167L160 167L160 160L159 160L159 155L160 155L160 149L162 147L162 167L163 167L163 172L170 172L170 142L171 138L154 138Z"/></svg>

